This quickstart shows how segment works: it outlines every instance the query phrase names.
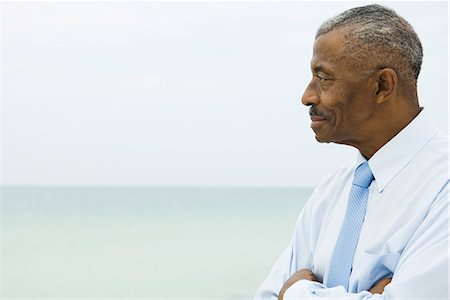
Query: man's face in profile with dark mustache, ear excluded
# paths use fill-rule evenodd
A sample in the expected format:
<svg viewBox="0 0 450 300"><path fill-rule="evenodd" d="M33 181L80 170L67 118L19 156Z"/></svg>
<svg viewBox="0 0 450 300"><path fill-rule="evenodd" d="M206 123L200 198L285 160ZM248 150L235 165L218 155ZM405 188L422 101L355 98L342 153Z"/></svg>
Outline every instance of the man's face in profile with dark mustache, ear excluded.
<svg viewBox="0 0 450 300"><path fill-rule="evenodd" d="M312 79L302 103L310 106L311 128L319 142L357 145L371 132L376 82L363 78L345 52L345 35L331 31L314 43ZM372 76L373 77L373 76Z"/></svg>

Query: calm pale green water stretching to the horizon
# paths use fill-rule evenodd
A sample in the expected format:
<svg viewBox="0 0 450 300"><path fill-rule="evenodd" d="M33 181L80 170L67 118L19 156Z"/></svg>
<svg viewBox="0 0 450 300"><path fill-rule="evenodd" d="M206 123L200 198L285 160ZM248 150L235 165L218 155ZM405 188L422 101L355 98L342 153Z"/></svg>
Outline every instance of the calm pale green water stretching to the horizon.
<svg viewBox="0 0 450 300"><path fill-rule="evenodd" d="M310 193L4 187L2 299L251 298Z"/></svg>

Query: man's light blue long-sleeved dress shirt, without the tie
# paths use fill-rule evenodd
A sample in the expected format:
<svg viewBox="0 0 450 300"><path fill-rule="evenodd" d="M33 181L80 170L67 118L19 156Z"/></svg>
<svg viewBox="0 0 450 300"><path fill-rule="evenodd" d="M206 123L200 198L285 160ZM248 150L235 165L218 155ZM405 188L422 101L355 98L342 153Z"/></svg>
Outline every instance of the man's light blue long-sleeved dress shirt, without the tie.
<svg viewBox="0 0 450 300"><path fill-rule="evenodd" d="M327 282L330 260L344 220L355 168L346 164L324 180L305 204L289 247L255 300L277 299L286 280L310 269ZM448 137L423 110L368 161L375 180L353 259L349 290L300 280L284 299L448 299ZM392 276L384 293L368 292Z"/></svg>

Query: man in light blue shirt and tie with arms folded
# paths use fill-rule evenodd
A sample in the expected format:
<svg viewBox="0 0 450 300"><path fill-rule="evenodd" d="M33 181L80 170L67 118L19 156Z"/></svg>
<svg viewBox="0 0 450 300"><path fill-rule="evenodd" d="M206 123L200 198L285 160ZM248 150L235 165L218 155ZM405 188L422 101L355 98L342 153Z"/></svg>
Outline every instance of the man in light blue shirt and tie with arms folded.
<svg viewBox="0 0 450 300"><path fill-rule="evenodd" d="M255 299L448 299L448 139L419 106L421 63L388 8L319 28L302 103L319 142L359 155L315 189Z"/></svg>

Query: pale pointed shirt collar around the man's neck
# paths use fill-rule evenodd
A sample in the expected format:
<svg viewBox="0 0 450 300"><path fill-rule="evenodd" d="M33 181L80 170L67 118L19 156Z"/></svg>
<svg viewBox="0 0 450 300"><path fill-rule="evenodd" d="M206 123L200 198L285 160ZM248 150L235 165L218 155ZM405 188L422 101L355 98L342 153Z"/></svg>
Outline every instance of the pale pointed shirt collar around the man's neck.
<svg viewBox="0 0 450 300"><path fill-rule="evenodd" d="M423 109L405 128L381 147L368 161L373 177L382 192L386 185L438 132ZM357 166L366 161L358 152Z"/></svg>

